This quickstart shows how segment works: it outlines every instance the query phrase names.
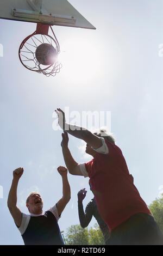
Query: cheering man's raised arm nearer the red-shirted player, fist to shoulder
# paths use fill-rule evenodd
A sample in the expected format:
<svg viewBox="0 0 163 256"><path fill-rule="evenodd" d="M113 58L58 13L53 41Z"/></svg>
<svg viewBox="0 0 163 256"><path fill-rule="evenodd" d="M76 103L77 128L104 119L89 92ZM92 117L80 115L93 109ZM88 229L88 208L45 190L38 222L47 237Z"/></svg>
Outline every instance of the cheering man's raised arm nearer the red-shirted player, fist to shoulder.
<svg viewBox="0 0 163 256"><path fill-rule="evenodd" d="M71 191L70 185L67 179L67 169L63 166L57 168L59 174L62 177L62 198L57 203L58 215L60 216L65 209L66 204L70 201Z"/></svg>

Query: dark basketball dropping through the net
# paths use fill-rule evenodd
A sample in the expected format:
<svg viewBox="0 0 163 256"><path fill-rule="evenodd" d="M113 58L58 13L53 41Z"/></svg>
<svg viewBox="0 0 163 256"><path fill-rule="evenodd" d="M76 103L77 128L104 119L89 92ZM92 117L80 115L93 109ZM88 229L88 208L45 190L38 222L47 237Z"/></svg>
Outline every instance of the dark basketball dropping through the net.
<svg viewBox="0 0 163 256"><path fill-rule="evenodd" d="M39 64L53 65L57 60L57 52L51 44L41 44L36 48L35 56Z"/></svg>

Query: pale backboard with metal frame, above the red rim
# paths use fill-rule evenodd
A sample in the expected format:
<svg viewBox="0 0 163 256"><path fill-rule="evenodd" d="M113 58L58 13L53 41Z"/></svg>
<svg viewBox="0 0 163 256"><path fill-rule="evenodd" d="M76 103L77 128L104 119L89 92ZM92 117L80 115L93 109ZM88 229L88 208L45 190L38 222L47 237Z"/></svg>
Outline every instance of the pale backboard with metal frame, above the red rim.
<svg viewBox="0 0 163 256"><path fill-rule="evenodd" d="M96 29L66 0L1 0L0 19Z"/></svg>

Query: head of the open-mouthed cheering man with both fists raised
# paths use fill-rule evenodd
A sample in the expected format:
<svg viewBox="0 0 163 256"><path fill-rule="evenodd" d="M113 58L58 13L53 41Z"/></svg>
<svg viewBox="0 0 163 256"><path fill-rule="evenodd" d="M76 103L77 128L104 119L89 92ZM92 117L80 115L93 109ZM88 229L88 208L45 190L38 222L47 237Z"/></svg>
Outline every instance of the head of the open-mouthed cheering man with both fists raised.
<svg viewBox="0 0 163 256"><path fill-rule="evenodd" d="M30 195L27 208L31 214L41 214L43 208L43 200L38 193L33 193Z"/></svg>

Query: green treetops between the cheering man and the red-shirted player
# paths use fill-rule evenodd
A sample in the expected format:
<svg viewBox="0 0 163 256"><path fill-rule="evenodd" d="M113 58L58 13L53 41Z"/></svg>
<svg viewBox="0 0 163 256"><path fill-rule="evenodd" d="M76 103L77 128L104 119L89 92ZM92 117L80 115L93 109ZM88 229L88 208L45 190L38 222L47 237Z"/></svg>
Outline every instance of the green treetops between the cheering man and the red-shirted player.
<svg viewBox="0 0 163 256"><path fill-rule="evenodd" d="M66 245L104 245L104 237L97 224L93 228L71 225L65 234Z"/></svg>

